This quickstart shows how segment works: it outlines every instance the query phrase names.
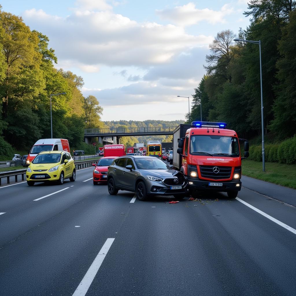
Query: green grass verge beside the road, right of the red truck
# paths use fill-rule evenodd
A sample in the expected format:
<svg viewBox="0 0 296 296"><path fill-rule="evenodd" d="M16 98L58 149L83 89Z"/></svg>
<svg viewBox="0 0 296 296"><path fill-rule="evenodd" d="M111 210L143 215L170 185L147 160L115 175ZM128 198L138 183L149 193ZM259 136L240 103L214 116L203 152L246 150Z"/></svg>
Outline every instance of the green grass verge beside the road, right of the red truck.
<svg viewBox="0 0 296 296"><path fill-rule="evenodd" d="M244 159L242 175L296 189L296 165L266 162L263 172L262 162Z"/></svg>

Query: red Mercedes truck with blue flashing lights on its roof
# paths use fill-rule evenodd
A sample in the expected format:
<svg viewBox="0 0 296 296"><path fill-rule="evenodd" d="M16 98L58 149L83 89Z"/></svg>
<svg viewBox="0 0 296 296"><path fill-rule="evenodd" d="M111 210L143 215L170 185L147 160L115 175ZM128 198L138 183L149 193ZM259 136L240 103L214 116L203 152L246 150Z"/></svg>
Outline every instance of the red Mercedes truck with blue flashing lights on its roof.
<svg viewBox="0 0 296 296"><path fill-rule="evenodd" d="M242 159L249 156L249 143L226 126L193 121L175 129L173 166L187 177L191 192L213 190L235 198L241 190ZM244 141L244 157L239 140Z"/></svg>

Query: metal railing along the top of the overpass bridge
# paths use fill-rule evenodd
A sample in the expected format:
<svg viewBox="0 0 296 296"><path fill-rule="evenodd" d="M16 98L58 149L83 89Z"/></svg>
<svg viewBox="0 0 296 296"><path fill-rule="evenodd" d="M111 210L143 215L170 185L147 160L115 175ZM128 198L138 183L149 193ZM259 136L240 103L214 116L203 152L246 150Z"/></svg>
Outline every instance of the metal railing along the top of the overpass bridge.
<svg viewBox="0 0 296 296"><path fill-rule="evenodd" d="M110 134L110 133L152 133L173 131L176 126L151 126L151 127L127 127L127 128L88 128L84 134Z"/></svg>

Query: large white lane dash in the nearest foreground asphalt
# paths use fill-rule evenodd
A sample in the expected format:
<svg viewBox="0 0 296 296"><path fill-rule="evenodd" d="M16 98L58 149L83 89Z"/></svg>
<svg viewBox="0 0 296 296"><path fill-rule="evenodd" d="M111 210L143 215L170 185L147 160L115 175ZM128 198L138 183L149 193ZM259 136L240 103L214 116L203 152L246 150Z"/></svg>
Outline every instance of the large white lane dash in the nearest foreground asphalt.
<svg viewBox="0 0 296 296"><path fill-rule="evenodd" d="M99 254L96 255L94 262L91 263L89 270L86 272L72 296L84 296L86 294L113 242L114 239L111 238L106 240L102 249L99 251Z"/></svg>

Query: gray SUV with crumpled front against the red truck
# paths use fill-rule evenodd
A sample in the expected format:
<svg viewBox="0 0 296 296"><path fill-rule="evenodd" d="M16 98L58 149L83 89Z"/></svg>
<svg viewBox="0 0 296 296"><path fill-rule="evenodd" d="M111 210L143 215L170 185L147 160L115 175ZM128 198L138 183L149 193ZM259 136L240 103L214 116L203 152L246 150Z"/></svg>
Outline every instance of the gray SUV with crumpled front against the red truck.
<svg viewBox="0 0 296 296"><path fill-rule="evenodd" d="M139 200L152 195L173 195L181 200L188 192L184 175L171 169L162 160L150 156L121 156L108 169L108 192L136 192Z"/></svg>

